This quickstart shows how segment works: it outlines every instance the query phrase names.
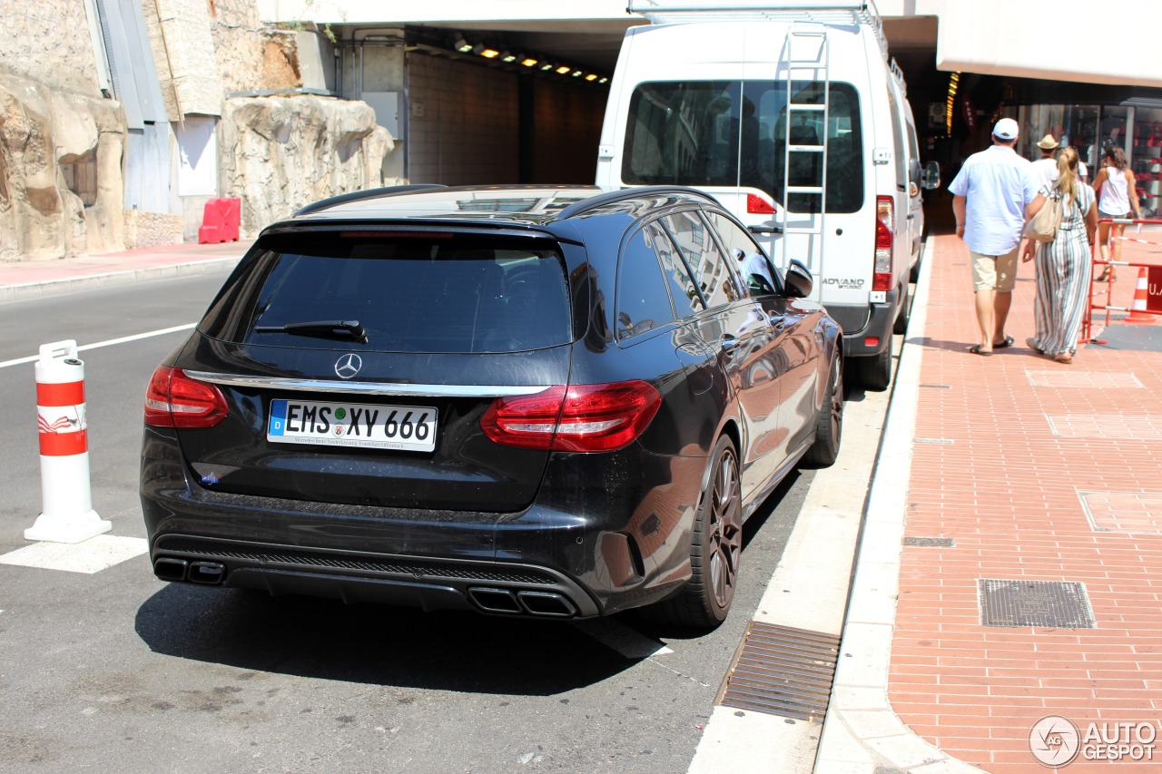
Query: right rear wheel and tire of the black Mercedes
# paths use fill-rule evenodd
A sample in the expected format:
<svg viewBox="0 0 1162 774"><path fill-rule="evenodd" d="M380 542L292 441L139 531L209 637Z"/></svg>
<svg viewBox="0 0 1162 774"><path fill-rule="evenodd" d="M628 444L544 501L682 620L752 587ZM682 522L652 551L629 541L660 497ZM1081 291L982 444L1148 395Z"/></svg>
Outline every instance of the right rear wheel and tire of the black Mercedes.
<svg viewBox="0 0 1162 774"><path fill-rule="evenodd" d="M710 478L690 539L690 580L675 596L643 610L659 623L713 629L726 619L734 601L743 557L743 496L734 442L720 437L710 459Z"/></svg>

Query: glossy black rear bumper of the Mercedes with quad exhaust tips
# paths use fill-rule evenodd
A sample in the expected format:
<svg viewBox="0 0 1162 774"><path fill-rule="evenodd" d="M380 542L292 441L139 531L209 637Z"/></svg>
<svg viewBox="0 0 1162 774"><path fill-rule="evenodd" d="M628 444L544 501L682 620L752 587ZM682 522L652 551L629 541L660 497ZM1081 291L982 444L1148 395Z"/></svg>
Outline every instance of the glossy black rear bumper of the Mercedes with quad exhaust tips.
<svg viewBox="0 0 1162 774"><path fill-rule="evenodd" d="M648 458L664 487L587 489L551 463L537 502L518 514L311 503L192 483L175 442L148 430L141 497L155 574L425 610L591 617L668 596L690 576L701 458ZM640 459L638 460L640 463Z"/></svg>

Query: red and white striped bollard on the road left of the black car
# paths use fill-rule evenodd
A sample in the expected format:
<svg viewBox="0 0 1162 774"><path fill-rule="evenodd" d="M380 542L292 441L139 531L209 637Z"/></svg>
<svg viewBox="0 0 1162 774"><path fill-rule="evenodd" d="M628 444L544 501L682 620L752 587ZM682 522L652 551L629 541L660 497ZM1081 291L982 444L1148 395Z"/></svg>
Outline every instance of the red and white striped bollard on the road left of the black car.
<svg viewBox="0 0 1162 774"><path fill-rule="evenodd" d="M77 342L41 345L36 361L36 423L41 436L44 513L24 530L26 540L80 543L113 529L93 510L88 480L85 364Z"/></svg>

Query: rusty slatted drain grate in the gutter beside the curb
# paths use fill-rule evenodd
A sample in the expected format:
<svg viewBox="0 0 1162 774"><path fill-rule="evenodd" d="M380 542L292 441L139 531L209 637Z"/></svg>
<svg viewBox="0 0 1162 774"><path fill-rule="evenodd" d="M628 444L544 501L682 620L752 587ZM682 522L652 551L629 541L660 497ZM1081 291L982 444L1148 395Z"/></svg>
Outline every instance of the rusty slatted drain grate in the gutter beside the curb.
<svg viewBox="0 0 1162 774"><path fill-rule="evenodd" d="M839 637L752 621L717 704L823 721L839 658Z"/></svg>

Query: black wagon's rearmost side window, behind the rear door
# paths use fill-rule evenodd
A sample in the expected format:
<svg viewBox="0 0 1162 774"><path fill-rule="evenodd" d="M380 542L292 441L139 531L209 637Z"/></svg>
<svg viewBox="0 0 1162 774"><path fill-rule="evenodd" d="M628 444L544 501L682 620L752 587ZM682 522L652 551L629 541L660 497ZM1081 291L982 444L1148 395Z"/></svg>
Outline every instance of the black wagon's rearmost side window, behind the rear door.
<svg viewBox="0 0 1162 774"><path fill-rule="evenodd" d="M660 328L674 320L674 307L666 292L654 235L641 229L625 243L617 261L617 341Z"/></svg>

